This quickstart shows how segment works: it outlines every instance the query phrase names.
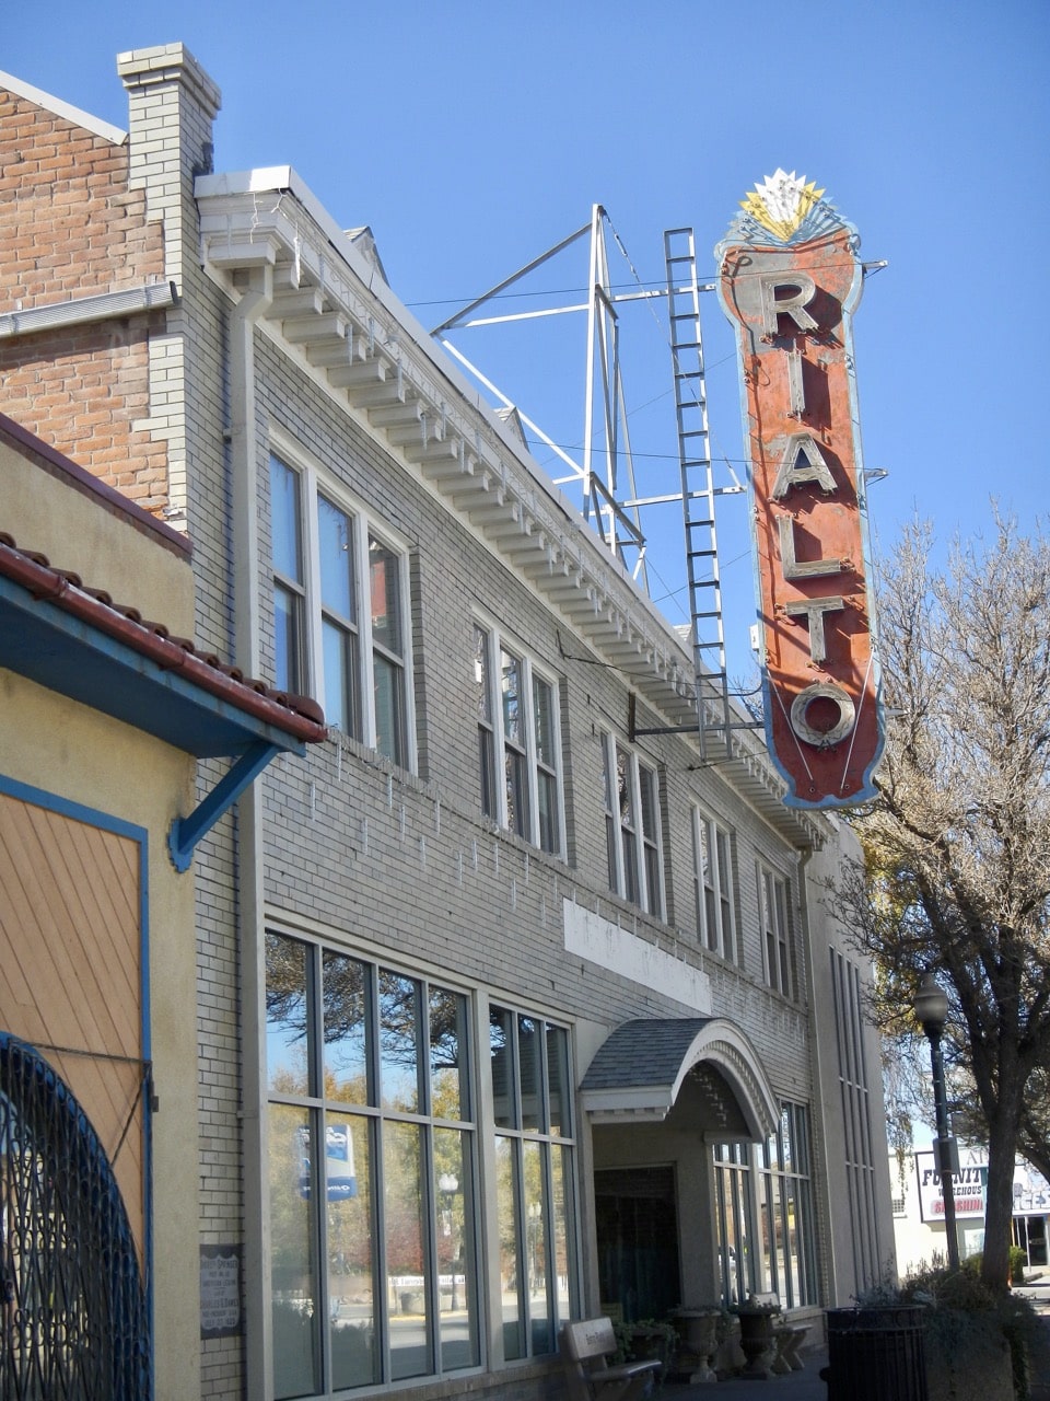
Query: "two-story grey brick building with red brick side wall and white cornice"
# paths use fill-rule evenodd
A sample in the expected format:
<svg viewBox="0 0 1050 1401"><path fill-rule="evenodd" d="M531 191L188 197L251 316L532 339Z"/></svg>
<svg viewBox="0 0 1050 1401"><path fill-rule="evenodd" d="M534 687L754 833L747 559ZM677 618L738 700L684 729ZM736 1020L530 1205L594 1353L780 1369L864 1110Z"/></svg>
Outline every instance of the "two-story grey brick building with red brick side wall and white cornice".
<svg viewBox="0 0 1050 1401"><path fill-rule="evenodd" d="M752 733L631 741L631 698L694 717L675 630L367 238L213 171L196 60L118 67L126 136L0 76L3 409L185 531L197 639L330 724L196 852L197 1236L241 1293L202 1274L157 1394L538 1398L570 1316L819 1324L892 1254L848 829Z"/></svg>

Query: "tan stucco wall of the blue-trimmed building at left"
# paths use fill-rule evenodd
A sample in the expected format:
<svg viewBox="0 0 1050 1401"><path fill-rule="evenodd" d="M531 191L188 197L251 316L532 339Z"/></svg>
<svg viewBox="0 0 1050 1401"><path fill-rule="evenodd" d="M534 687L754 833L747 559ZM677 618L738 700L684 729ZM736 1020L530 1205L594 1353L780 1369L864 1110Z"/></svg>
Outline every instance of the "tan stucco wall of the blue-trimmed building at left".
<svg viewBox="0 0 1050 1401"><path fill-rule="evenodd" d="M192 630L188 558L10 444L0 444L0 530L172 632ZM78 821L146 834L158 1401L199 1395L195 877L175 873L165 846L172 818L193 807L195 773L182 751L0 667L0 778L39 790L45 807L76 804Z"/></svg>

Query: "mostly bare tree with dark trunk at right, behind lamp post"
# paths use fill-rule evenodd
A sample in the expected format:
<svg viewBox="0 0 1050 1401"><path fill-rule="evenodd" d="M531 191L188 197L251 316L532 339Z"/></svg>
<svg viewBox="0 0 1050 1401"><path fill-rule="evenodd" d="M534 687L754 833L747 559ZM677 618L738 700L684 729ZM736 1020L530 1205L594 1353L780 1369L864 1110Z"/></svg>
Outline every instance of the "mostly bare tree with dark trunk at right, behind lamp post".
<svg viewBox="0 0 1050 1401"><path fill-rule="evenodd" d="M925 971L949 996L945 1055L988 1145L983 1274L1005 1286L1015 1153L1035 1161L1033 1136L1047 1156L1050 542L994 528L935 570L913 525L888 562L879 799L855 820L865 871L834 898L876 961L886 1033L917 1033Z"/></svg>

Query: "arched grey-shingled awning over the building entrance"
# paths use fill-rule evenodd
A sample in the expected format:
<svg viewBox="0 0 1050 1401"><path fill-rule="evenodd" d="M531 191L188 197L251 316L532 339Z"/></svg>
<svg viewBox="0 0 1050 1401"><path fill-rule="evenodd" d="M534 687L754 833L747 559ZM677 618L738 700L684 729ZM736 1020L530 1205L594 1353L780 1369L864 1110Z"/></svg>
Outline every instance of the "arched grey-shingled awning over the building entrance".
<svg viewBox="0 0 1050 1401"><path fill-rule="evenodd" d="M718 1072L752 1140L773 1132L777 1098L755 1047L725 1017L624 1021L591 1062L581 1103L592 1124L661 1124L699 1066Z"/></svg>

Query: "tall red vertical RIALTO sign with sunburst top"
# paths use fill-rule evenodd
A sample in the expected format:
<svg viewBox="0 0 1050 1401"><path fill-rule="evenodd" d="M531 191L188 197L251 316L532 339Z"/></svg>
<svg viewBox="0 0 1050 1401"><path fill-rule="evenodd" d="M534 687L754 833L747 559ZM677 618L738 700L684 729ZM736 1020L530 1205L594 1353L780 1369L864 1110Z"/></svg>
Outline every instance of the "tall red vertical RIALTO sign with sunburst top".
<svg viewBox="0 0 1050 1401"><path fill-rule="evenodd" d="M872 797L882 750L857 423L858 237L777 171L715 249L738 328L766 736L792 807Z"/></svg>

